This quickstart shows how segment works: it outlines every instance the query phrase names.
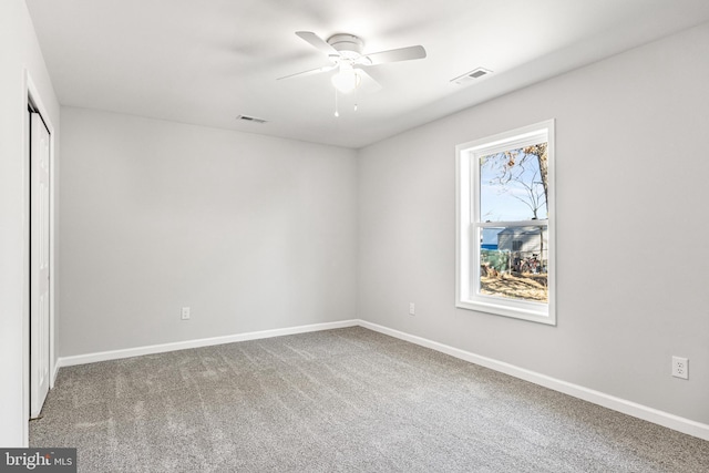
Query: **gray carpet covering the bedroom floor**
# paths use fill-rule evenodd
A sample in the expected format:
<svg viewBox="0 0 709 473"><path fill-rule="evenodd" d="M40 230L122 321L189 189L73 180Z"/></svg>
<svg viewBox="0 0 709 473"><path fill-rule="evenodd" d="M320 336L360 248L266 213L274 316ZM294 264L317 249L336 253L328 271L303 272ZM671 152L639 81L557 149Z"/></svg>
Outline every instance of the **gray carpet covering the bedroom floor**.
<svg viewBox="0 0 709 473"><path fill-rule="evenodd" d="M360 327L62 368L80 472L706 472L709 442Z"/></svg>

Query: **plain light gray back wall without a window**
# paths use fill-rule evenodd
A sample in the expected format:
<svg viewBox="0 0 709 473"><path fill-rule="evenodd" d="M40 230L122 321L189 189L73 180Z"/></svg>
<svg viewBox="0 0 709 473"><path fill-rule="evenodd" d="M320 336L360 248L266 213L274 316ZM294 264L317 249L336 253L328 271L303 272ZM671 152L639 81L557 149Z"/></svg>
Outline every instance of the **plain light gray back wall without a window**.
<svg viewBox="0 0 709 473"><path fill-rule="evenodd" d="M353 151L71 107L62 124L60 356L356 317Z"/></svg>

